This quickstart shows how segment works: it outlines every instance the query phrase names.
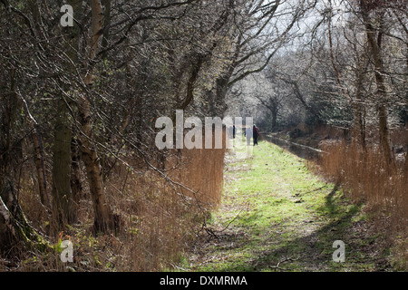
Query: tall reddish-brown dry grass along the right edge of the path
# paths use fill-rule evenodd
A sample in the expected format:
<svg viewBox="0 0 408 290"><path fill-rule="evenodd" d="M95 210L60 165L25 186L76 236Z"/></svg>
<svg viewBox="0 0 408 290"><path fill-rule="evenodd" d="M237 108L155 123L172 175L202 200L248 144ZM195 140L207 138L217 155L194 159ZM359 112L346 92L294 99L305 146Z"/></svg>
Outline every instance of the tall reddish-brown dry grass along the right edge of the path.
<svg viewBox="0 0 408 290"><path fill-rule="evenodd" d="M408 172L403 160L390 165L378 148L364 151L345 141L326 144L322 150L325 154L318 161L319 173L341 184L350 198L364 201L381 217L375 223L392 237L399 261L406 268Z"/></svg>

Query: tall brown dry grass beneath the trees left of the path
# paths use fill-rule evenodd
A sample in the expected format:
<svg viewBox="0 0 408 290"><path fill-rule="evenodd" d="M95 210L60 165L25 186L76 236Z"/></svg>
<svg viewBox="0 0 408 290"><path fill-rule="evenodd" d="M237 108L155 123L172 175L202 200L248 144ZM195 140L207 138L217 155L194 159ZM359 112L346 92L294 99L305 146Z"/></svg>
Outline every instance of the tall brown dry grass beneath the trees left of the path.
<svg viewBox="0 0 408 290"><path fill-rule="evenodd" d="M16 259L0 256L0 271L170 269L196 237L209 210L219 204L224 154L225 149L170 150L164 159L161 156L161 160L151 161L157 163L154 167L137 159L131 160L136 169L116 165L105 180L105 192L113 211L121 217L121 229L104 235L92 233L92 203L86 180L78 222L53 234L52 216L41 205L27 167L21 178L20 203L55 253L44 255L21 248ZM65 239L73 242L73 263L60 260L58 245Z"/></svg>

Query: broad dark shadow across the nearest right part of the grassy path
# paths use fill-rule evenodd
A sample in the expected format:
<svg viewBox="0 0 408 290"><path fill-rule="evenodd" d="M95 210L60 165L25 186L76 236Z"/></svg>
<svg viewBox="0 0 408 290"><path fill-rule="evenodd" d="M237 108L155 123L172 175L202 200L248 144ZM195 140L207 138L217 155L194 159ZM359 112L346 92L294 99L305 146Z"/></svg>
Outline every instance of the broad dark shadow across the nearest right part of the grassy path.
<svg viewBox="0 0 408 290"><path fill-rule="evenodd" d="M350 263L337 264L332 261L335 251L335 240L344 240L348 252L359 252L358 241L345 240L346 230L353 226L353 218L360 211L361 205L355 204L344 210L342 205L335 203L334 197L338 185L328 193L322 212L330 222L309 235L303 237L277 237L277 241L262 250L254 249L250 256L237 258L230 263L219 266L220 272L260 272L260 271L325 271L350 270ZM289 226L290 227L290 226ZM305 224L307 227L307 224ZM271 227L273 230L273 227ZM294 232L294 236L298 233ZM280 240L281 239L281 240ZM348 239L348 238L347 238ZM248 240L242 241L248 245ZM346 261L347 262L347 261ZM353 270L353 269L351 269Z"/></svg>

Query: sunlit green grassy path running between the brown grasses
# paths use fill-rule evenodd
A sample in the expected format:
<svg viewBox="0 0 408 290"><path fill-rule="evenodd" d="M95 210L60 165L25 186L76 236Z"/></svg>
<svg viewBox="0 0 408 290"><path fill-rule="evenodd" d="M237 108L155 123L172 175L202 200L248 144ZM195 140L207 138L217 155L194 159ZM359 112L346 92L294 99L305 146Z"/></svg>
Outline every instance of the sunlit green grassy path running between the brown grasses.
<svg viewBox="0 0 408 290"><path fill-rule="evenodd" d="M305 160L266 141L253 152L237 147L227 156L222 206L209 225L215 236L202 235L189 270L390 269L362 208L306 169ZM345 263L333 262L335 240L345 242Z"/></svg>

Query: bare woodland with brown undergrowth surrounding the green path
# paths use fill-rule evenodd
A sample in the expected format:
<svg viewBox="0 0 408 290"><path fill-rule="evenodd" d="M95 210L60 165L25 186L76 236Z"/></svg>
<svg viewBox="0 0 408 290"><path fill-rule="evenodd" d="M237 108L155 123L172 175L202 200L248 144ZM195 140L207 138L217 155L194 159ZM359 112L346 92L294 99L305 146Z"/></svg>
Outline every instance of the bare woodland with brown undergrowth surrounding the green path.
<svg viewBox="0 0 408 290"><path fill-rule="evenodd" d="M155 121L176 110L319 132L322 174L388 208L404 240L407 8L2 0L0 270L61 270L64 239L81 248L79 270L177 259L219 204L225 150L158 150Z"/></svg>

